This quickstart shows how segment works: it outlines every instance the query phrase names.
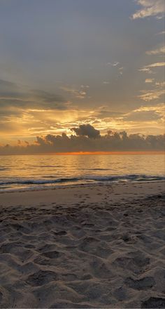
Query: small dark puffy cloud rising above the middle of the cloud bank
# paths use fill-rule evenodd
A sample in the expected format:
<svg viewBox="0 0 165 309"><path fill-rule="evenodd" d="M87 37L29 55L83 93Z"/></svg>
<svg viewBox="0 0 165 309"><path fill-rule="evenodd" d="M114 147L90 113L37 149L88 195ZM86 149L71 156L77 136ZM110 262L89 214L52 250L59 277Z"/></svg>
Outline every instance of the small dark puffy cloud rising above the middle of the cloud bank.
<svg viewBox="0 0 165 309"><path fill-rule="evenodd" d="M94 126L90 124L81 124L79 128L72 128L71 131L74 131L77 136L87 136L88 138L100 137L100 131L94 129Z"/></svg>

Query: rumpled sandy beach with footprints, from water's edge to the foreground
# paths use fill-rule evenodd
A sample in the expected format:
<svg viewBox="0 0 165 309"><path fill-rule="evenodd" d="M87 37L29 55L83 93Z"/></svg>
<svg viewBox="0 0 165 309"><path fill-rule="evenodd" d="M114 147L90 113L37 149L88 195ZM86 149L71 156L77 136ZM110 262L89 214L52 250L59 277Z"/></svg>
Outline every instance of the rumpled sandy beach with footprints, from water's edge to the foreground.
<svg viewBox="0 0 165 309"><path fill-rule="evenodd" d="M0 194L0 308L165 308L164 183Z"/></svg>

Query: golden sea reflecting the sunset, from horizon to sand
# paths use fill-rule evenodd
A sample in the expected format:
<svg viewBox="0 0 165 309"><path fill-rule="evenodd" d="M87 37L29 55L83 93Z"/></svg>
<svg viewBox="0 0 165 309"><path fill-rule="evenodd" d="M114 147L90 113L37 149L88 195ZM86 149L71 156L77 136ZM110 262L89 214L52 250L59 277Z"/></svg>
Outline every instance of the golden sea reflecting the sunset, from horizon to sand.
<svg viewBox="0 0 165 309"><path fill-rule="evenodd" d="M0 191L165 180L164 155L0 156Z"/></svg>

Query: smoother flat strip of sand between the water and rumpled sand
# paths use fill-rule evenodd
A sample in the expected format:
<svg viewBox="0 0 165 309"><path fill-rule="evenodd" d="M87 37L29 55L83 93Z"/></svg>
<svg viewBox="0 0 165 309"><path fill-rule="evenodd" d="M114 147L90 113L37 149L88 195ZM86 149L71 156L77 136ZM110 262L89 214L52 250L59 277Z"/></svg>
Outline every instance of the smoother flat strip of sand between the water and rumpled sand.
<svg viewBox="0 0 165 309"><path fill-rule="evenodd" d="M121 202L134 198L144 198L150 195L163 194L165 192L165 181L139 181L139 182L121 182L121 183L85 183L74 185L55 185L53 188L43 188L34 190L14 190L8 192L0 192L0 207L8 206L8 204L22 205L40 204L45 202L49 204L56 199L57 203L72 204L74 202L81 202L74 198L74 195L80 192L80 195L89 194L90 202L99 202L103 200L106 190L109 190L109 202ZM61 194L64 190L64 195ZM101 195L98 195L98 190L101 190Z"/></svg>

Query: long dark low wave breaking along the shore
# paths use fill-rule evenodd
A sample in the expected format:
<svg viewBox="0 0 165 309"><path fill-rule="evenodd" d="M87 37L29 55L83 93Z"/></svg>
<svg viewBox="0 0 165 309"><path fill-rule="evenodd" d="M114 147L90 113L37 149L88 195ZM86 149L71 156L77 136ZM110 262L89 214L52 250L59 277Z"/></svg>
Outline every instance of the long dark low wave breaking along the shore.
<svg viewBox="0 0 165 309"><path fill-rule="evenodd" d="M59 183L77 183L77 182L127 182L127 181L154 181L165 180L165 176L149 176L149 175L121 175L121 176L84 176L74 178L51 178L50 179L13 179L0 180L0 185L54 185Z"/></svg>

